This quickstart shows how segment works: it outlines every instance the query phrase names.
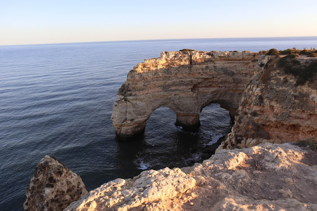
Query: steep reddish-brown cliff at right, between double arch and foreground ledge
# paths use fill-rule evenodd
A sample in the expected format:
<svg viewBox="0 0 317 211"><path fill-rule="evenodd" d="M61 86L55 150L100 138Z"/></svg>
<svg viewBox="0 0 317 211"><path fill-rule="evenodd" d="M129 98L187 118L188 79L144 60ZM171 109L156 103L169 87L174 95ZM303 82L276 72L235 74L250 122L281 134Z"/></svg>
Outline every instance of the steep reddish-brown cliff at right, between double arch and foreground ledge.
<svg viewBox="0 0 317 211"><path fill-rule="evenodd" d="M279 56L261 56L247 84L232 132L218 149L285 143L317 137L317 79L296 86L277 65ZM301 65L315 58L295 58ZM306 74L306 73L304 73Z"/></svg>

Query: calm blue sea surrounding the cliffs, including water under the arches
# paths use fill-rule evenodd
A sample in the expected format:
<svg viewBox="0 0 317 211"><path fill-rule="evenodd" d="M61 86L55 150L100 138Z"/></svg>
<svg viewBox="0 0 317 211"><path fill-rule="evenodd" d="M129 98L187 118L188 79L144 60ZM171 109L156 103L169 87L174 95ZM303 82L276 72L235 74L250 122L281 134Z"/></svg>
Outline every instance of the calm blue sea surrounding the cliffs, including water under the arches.
<svg viewBox="0 0 317 211"><path fill-rule="evenodd" d="M116 93L144 58L184 48L253 51L317 48L317 37L152 40L0 47L0 210L23 210L34 168L52 155L88 190L144 169L209 158L230 132L226 110L210 105L186 132L169 108L155 110L143 137L117 142L110 120Z"/></svg>

